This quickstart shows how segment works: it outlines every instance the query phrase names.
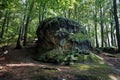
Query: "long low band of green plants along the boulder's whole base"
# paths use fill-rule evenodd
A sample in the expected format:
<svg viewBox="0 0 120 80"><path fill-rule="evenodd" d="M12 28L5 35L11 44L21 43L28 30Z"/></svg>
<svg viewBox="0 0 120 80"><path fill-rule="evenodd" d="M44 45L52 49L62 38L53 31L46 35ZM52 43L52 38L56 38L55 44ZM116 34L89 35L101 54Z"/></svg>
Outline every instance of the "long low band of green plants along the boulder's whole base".
<svg viewBox="0 0 120 80"><path fill-rule="evenodd" d="M74 49L70 49L67 53L64 53L61 48L49 51L43 50L44 49L41 49L39 52L43 52L44 54L40 53L37 56L35 56L37 60L43 62L52 62L57 64L62 63L66 65L71 65L74 63L94 63L94 64L104 63L103 59L94 53L85 55L77 53Z"/></svg>

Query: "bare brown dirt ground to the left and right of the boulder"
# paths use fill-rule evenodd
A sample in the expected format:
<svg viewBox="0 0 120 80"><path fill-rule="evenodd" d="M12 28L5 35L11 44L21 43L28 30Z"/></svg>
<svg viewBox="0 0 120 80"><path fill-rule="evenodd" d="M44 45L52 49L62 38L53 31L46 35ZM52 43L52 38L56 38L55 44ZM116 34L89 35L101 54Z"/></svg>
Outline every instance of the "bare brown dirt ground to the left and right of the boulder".
<svg viewBox="0 0 120 80"><path fill-rule="evenodd" d="M77 73L77 69L72 69L69 66L54 65L49 63L37 62L32 59L34 53L33 48L14 49L9 48L8 56L0 58L0 80L45 80L45 79L33 79L34 76L43 73L51 72L51 75L57 76L54 80L83 80L76 79L71 73ZM120 74L120 58L108 57L106 54L101 54L105 62L113 67ZM59 72L57 74L57 72ZM70 74L68 74L70 73ZM118 75L119 76L119 75ZM46 76L48 77L48 76ZM48 79L49 80L49 77ZM84 79L86 80L86 79ZM113 80L120 80L113 79Z"/></svg>

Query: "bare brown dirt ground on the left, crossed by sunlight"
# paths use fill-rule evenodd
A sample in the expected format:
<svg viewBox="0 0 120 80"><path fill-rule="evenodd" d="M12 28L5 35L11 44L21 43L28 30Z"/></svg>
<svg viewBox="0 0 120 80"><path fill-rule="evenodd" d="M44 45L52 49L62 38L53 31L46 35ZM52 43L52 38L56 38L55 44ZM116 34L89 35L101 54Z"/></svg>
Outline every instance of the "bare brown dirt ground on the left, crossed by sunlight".
<svg viewBox="0 0 120 80"><path fill-rule="evenodd" d="M9 48L8 56L0 58L0 80L38 80L32 79L32 77L42 75L41 72L44 70L53 71L53 74L54 71L61 71L60 76L64 75L62 72L70 71L68 66L37 62L32 59L33 53L33 48ZM64 77L72 78L70 75L64 75Z"/></svg>

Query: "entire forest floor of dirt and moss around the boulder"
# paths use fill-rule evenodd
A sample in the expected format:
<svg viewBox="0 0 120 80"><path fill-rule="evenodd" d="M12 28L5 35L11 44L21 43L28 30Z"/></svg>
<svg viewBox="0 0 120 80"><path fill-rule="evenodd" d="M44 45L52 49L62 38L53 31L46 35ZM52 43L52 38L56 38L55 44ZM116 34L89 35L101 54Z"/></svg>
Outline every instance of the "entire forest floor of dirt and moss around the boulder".
<svg viewBox="0 0 120 80"><path fill-rule="evenodd" d="M102 53L106 64L74 64L72 66L37 62L33 48L9 48L0 58L0 80L120 80L120 55Z"/></svg>

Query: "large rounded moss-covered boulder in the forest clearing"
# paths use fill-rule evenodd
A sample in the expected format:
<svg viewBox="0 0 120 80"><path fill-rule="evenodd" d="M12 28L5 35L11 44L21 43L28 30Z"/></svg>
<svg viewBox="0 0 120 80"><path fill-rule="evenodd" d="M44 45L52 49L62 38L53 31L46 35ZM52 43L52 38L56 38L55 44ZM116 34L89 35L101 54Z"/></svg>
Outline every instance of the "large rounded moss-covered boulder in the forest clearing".
<svg viewBox="0 0 120 80"><path fill-rule="evenodd" d="M61 63L67 55L90 53L91 44L86 30L74 20L62 17L45 19L36 33L37 60Z"/></svg>

